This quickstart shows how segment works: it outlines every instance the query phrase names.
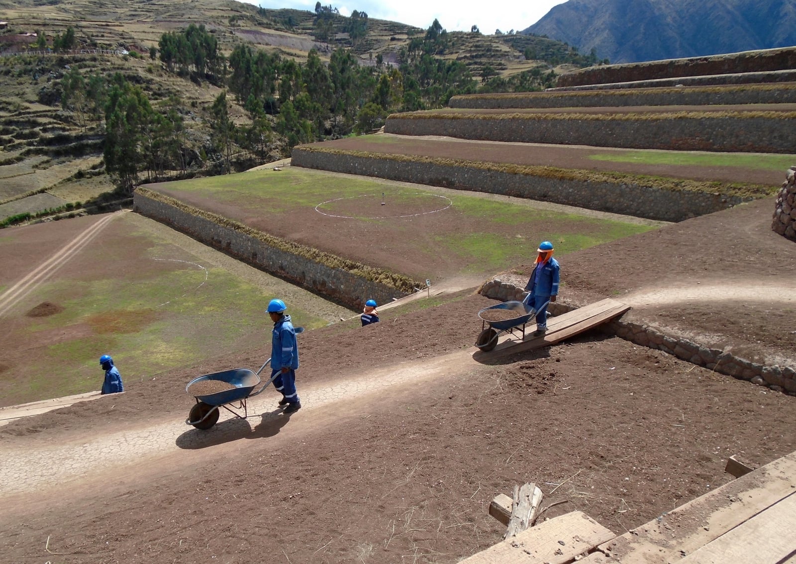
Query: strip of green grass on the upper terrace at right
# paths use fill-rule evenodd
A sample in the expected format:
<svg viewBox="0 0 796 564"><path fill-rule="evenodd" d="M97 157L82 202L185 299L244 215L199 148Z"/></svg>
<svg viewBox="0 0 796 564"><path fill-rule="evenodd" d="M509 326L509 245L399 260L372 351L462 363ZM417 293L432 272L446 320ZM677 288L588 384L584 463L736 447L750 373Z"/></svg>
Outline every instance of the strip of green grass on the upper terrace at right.
<svg viewBox="0 0 796 564"><path fill-rule="evenodd" d="M638 162L645 165L737 166L743 169L786 170L796 164L796 155L692 153L685 151L626 151L589 155L594 161Z"/></svg>

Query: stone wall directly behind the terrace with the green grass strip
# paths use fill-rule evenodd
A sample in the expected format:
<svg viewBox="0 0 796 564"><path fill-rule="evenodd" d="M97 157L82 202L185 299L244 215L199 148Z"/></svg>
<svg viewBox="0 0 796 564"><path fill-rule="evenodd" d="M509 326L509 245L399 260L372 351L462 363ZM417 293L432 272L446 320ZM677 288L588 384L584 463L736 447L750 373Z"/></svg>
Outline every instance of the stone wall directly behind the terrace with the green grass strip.
<svg viewBox="0 0 796 564"><path fill-rule="evenodd" d="M721 115L721 114L725 115ZM796 153L796 115L760 112L696 114L394 114L384 133L443 135L472 141L552 143L621 149L702 150L730 153Z"/></svg>

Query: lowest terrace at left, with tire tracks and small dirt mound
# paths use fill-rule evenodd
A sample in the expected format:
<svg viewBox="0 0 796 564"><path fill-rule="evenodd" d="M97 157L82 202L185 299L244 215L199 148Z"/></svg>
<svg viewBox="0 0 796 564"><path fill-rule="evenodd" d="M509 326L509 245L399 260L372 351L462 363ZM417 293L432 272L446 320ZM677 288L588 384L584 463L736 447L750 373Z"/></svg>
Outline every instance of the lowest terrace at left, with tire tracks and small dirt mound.
<svg viewBox="0 0 796 564"><path fill-rule="evenodd" d="M263 346L275 295L307 329L350 315L129 212L5 229L0 263L2 406L96 390L103 353L128 384Z"/></svg>

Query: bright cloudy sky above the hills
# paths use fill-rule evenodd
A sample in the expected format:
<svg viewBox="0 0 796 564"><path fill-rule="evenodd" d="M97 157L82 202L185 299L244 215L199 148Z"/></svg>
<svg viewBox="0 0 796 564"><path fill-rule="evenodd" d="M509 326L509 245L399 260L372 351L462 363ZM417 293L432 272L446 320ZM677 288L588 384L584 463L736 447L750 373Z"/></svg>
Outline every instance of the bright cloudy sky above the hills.
<svg viewBox="0 0 796 564"><path fill-rule="evenodd" d="M263 6L263 8L295 8L296 10L315 10L318 0L244 0ZM427 28L439 20L448 31L470 31L478 25L481 33L489 35L496 29L507 33L520 31L535 24L553 6L565 0L504 0L491 2L462 2L461 0L340 0L330 2L321 0L324 6L330 4L349 16L353 10L368 14L369 18L400 21L400 23ZM499 6L499 7L498 7Z"/></svg>

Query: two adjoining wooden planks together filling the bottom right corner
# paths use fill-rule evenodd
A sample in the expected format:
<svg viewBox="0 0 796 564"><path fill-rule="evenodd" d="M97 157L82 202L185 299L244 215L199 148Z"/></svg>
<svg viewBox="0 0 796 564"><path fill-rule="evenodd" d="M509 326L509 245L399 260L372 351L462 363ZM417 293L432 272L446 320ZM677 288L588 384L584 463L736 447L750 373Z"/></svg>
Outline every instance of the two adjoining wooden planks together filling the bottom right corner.
<svg viewBox="0 0 796 564"><path fill-rule="evenodd" d="M796 556L796 453L599 546L587 564L784 564Z"/></svg>

